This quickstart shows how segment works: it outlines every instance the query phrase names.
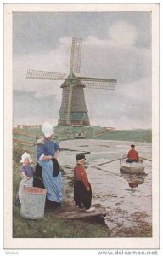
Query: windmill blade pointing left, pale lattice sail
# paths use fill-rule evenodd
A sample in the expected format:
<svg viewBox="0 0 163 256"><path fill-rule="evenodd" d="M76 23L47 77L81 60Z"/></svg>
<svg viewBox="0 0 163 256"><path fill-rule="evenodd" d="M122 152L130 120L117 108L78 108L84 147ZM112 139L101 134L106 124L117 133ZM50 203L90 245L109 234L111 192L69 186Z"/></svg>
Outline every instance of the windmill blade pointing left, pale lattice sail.
<svg viewBox="0 0 163 256"><path fill-rule="evenodd" d="M26 78L27 79L63 80L66 78L66 73L28 69Z"/></svg>

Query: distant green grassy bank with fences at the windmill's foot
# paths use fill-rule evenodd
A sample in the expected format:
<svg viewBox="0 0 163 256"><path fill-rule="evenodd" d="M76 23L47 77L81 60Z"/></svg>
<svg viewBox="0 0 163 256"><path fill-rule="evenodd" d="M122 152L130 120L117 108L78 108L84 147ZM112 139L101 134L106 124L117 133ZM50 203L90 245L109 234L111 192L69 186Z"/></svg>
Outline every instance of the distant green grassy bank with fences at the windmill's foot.
<svg viewBox="0 0 163 256"><path fill-rule="evenodd" d="M62 140L74 139L75 135L82 133L87 139L101 139L101 140L116 140L116 141L133 141L142 143L152 142L152 131L150 129L138 129L138 130L115 130L107 131L106 128L100 126L89 127L68 127L68 126L56 126L55 141L59 143ZM24 139L28 137L28 142L35 142L36 137L42 137L41 129L35 129L31 127L14 129L15 139Z"/></svg>

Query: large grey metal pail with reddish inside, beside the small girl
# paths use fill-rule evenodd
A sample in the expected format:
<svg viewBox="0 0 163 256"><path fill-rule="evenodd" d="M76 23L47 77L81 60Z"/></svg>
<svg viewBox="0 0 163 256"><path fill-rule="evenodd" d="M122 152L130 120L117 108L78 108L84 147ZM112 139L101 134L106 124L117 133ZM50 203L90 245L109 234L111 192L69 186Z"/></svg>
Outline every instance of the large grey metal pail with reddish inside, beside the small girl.
<svg viewBox="0 0 163 256"><path fill-rule="evenodd" d="M46 189L24 186L20 215L31 219L42 218L44 216L46 194Z"/></svg>

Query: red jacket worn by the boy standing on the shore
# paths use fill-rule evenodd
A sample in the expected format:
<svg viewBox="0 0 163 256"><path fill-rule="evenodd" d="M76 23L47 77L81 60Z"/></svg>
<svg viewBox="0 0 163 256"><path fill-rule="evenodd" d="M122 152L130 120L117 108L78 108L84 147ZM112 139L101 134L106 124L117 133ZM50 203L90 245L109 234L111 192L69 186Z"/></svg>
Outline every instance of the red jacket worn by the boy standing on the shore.
<svg viewBox="0 0 163 256"><path fill-rule="evenodd" d="M84 186L86 188L89 187L87 173L86 173L86 170L84 169L83 166L81 166L81 165L75 166L75 168L74 168L74 178L75 178L75 180L81 180L84 183Z"/></svg>

